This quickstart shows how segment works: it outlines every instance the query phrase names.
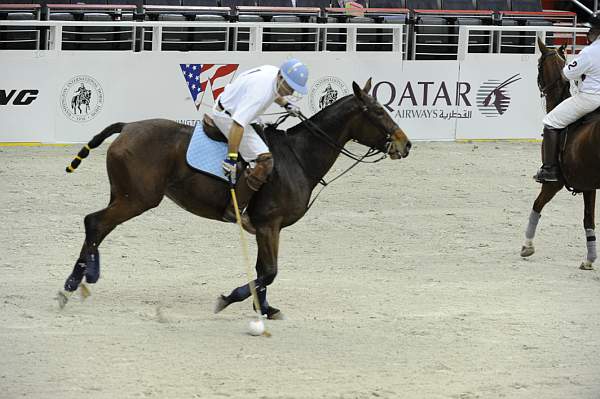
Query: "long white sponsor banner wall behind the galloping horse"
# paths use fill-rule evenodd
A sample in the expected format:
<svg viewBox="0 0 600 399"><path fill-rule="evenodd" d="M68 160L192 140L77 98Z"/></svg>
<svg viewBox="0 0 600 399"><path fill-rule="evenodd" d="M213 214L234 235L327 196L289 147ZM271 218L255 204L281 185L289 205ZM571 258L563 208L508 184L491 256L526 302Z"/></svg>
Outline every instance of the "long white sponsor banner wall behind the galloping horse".
<svg viewBox="0 0 600 399"><path fill-rule="evenodd" d="M240 72L291 56L309 67L298 103L306 115L372 78L371 94L413 140L539 137L533 55L459 62L394 53L2 51L0 142L87 142L111 123L148 118L193 125ZM263 121L277 112L271 107Z"/></svg>

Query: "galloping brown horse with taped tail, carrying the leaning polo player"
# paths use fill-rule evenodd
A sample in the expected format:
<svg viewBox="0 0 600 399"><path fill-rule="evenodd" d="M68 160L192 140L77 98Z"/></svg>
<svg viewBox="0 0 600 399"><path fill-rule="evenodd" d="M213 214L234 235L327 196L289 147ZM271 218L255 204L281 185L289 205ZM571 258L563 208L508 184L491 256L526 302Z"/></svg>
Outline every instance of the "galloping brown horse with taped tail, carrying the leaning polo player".
<svg viewBox="0 0 600 399"><path fill-rule="evenodd" d="M261 312L271 319L281 317L280 311L269 306L266 298L267 286L277 274L279 233L306 213L314 187L338 155L352 156L344 145L355 140L369 147L371 154L383 153L382 157L389 155L392 159L408 156L410 141L368 94L371 79L363 89L356 83L352 88L353 95L336 101L287 132L274 127L265 130L275 168L247 211L256 227L258 244L255 286ZM106 156L110 202L84 219L85 241L65 282L65 291L59 293L61 307L84 277L88 283L98 280L98 246L117 225L158 206L165 195L183 209L214 220L221 220L230 199L227 183L196 172L186 163L193 127L168 120L116 123L107 127L79 152L68 171L76 168L91 148L119 132ZM249 296L248 284L238 287L230 295L218 298L215 312Z"/></svg>

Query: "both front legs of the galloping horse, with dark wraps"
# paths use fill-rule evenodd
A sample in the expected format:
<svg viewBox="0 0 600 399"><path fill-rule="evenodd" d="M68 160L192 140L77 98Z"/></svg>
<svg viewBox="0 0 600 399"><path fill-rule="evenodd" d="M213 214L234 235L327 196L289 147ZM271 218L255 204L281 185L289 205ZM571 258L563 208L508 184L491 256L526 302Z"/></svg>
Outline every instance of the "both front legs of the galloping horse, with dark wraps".
<svg viewBox="0 0 600 399"><path fill-rule="evenodd" d="M277 253L279 250L279 226L257 226L256 243L258 245L258 257L256 259L257 278L254 280L261 314L269 319L282 319L283 314L279 309L269 305L267 301L267 286L277 276ZM228 296L221 295L217 298L215 313L225 309L234 302L241 302L252 295L249 284L237 287Z"/></svg>

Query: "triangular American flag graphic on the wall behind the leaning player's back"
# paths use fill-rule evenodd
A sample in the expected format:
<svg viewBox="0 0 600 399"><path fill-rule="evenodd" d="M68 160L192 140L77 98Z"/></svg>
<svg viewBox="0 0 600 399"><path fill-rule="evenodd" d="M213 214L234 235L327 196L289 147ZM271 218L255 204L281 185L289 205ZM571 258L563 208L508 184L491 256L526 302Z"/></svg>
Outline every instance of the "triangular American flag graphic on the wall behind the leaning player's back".
<svg viewBox="0 0 600 399"><path fill-rule="evenodd" d="M188 89L200 109L207 89L212 91L212 100L216 100L227 83L231 82L239 64L179 64Z"/></svg>

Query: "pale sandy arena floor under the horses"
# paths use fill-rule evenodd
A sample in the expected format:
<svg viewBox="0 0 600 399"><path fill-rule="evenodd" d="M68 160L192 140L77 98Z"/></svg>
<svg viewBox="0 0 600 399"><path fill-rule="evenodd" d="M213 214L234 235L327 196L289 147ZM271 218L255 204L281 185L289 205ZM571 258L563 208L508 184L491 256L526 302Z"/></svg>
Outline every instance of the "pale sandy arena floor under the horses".
<svg viewBox="0 0 600 399"><path fill-rule="evenodd" d="M558 194L519 257L538 143L416 143L334 183L282 234L271 338L246 334L250 301L212 313L245 279L237 227L169 200L59 311L107 147L73 175L79 147L0 148L0 398L600 398L582 198Z"/></svg>

